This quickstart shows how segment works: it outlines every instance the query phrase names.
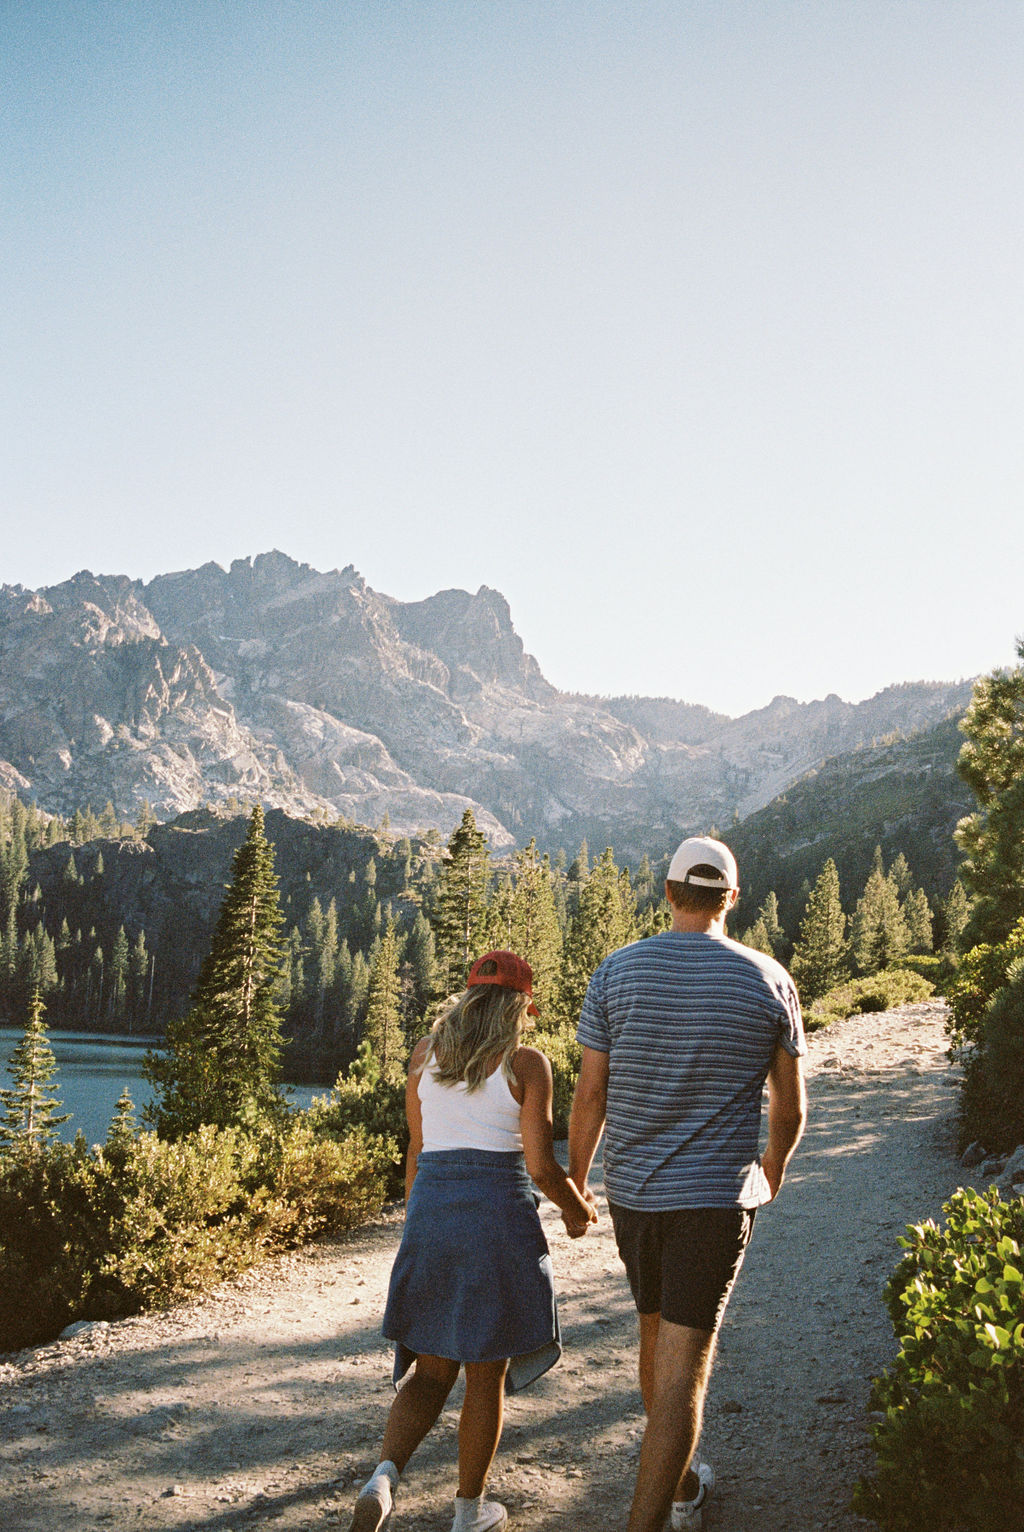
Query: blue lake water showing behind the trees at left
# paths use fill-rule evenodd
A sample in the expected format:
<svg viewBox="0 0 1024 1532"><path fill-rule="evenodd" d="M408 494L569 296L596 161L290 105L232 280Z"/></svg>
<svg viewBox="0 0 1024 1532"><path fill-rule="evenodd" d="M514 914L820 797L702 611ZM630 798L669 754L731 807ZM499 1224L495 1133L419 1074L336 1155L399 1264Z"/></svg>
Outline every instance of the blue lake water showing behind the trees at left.
<svg viewBox="0 0 1024 1532"><path fill-rule="evenodd" d="M0 1026L0 1086L11 1085L6 1065L20 1037L20 1026ZM57 1059L51 1094L60 1097L63 1112L72 1114L60 1126L61 1138L69 1143L78 1129L90 1144L104 1141L124 1086L136 1112L152 1098L153 1092L143 1079L143 1059L159 1039L58 1031L48 1033L48 1039ZM293 1106L308 1106L314 1095L327 1095L328 1088L293 1085L288 1092Z"/></svg>

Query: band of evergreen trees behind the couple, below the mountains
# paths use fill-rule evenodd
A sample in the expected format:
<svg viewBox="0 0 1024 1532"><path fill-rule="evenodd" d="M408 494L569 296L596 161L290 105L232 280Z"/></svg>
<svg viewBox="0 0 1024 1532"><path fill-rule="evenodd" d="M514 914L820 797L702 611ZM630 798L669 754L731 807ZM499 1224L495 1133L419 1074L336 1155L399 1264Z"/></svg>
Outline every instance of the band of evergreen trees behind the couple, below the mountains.
<svg viewBox="0 0 1024 1532"><path fill-rule="evenodd" d="M0 797L0 1017L21 1022L38 994L49 1026L164 1036L189 1010L248 815L233 803L158 824L144 807L127 823L107 804L63 820ZM541 1030L572 1048L601 958L667 922L664 855L619 867L612 849L592 856L583 843L572 859L564 850L550 858L530 841L494 856L471 810L448 844L437 832L395 838L386 821L369 829L281 810L265 826L281 882L276 1003L294 1080L331 1083L357 1059L374 980L408 1045L486 947L527 958ZM877 827L872 820L860 830ZM837 858L819 846L817 863L800 856L794 887L785 843L773 867L771 826L763 829L756 849L740 844L751 838L747 824L730 836L742 872L750 864L763 890L756 905L743 893L731 935L791 964L805 1002L955 941L963 890L952 876L937 896L929 859L921 873L903 852L886 864L881 846L862 838L858 881L840 885ZM849 866L842 846L839 859ZM779 892L768 885L773 870Z"/></svg>

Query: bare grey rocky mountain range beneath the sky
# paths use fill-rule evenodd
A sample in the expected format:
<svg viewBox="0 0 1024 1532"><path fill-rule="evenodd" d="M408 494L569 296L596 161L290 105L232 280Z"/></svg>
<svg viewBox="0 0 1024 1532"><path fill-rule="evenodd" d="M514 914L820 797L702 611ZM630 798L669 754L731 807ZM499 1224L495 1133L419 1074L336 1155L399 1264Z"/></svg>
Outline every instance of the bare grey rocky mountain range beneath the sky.
<svg viewBox="0 0 1024 1532"><path fill-rule="evenodd" d="M149 584L83 571L0 587L0 786L63 813L261 798L446 835L471 806L495 849L587 835L629 856L743 820L823 760L929 728L969 694L776 697L740 719L566 694L497 590L399 602L351 567L276 552Z"/></svg>

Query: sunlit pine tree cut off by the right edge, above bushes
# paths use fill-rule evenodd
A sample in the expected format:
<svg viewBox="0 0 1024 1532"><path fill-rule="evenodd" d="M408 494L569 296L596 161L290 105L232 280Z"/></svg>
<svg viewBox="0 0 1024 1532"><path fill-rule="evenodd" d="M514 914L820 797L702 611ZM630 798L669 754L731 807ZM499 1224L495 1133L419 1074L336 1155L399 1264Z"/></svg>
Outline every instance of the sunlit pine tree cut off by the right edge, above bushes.
<svg viewBox="0 0 1024 1532"><path fill-rule="evenodd" d="M978 800L957 826L960 879L970 902L964 950L1003 942L1024 916L1024 637L1013 669L984 676L960 725L957 769Z"/></svg>

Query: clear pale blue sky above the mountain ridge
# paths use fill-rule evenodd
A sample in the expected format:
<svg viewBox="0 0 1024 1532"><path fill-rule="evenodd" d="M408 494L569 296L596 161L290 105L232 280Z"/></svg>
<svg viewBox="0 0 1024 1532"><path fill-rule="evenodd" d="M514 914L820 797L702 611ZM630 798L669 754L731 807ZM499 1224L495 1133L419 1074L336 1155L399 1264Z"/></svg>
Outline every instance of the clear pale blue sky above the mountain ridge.
<svg viewBox="0 0 1024 1532"><path fill-rule="evenodd" d="M5 0L0 579L279 547L742 712L1013 659L1019 0Z"/></svg>

